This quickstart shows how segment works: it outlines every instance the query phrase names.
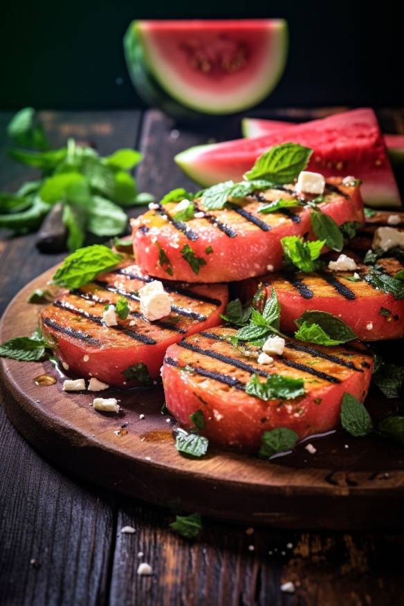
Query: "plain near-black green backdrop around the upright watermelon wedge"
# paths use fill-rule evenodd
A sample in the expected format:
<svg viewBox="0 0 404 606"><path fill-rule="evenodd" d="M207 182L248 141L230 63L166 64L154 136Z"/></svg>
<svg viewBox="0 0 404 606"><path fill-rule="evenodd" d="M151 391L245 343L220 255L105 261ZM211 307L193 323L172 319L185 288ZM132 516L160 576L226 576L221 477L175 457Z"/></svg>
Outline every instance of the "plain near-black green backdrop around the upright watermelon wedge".
<svg viewBox="0 0 404 606"><path fill-rule="evenodd" d="M396 3L398 7L398 3ZM272 107L404 103L402 20L383 2L17 2L1 13L0 109L141 105L122 35L140 18L285 17L290 55Z"/></svg>

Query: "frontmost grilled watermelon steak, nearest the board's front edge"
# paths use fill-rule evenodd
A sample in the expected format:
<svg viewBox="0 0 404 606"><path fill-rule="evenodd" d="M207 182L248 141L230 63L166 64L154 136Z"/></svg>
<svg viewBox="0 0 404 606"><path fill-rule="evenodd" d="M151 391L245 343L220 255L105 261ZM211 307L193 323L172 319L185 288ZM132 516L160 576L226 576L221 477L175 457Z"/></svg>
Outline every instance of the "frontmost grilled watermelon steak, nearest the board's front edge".
<svg viewBox="0 0 404 606"><path fill-rule="evenodd" d="M244 355L228 342L235 332L222 327L186 338L167 349L163 365L169 412L192 428L190 415L201 410L201 433L218 446L258 452L263 432L275 428L289 428L300 438L327 432L339 424L344 392L365 399L372 357L359 343L355 349L306 347L290 339L282 356L263 366L257 347ZM261 400L246 393L253 374L260 381L271 374L303 379L304 394Z"/></svg>

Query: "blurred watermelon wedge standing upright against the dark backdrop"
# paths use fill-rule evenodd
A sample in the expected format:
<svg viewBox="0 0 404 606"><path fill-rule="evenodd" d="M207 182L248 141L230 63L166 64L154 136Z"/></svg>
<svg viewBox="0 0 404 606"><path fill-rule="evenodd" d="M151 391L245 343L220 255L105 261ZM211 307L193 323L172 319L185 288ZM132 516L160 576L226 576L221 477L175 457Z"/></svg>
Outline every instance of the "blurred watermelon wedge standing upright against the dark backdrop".
<svg viewBox="0 0 404 606"><path fill-rule="evenodd" d="M226 114L253 107L275 88L288 30L283 19L133 21L124 46L132 81L146 102L169 111L171 98L173 111L181 104Z"/></svg>

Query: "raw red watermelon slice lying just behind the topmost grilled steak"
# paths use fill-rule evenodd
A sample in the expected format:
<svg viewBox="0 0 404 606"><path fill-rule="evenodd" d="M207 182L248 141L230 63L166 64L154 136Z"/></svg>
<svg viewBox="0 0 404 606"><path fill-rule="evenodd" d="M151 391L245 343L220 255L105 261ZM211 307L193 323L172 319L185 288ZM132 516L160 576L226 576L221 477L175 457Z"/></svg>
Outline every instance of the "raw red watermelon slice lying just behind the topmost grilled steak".
<svg viewBox="0 0 404 606"><path fill-rule="evenodd" d="M374 111L354 109L334 116L289 126L254 139L239 139L186 149L175 158L183 171L201 185L241 176L273 145L293 141L314 152L309 170L324 176L352 175L363 181L362 195L372 206L401 205Z"/></svg>

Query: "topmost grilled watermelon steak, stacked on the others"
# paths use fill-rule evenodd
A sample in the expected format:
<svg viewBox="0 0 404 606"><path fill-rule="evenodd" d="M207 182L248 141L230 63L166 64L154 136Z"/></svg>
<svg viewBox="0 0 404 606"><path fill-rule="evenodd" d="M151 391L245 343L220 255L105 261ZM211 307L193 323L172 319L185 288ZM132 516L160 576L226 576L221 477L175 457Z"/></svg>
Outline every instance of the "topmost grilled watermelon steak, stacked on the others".
<svg viewBox="0 0 404 606"><path fill-rule="evenodd" d="M329 178L324 201L319 207L338 225L346 221L363 222L362 198L358 185L344 185ZM280 239L307 234L311 230L307 207L284 212L260 213L268 201L302 198L293 185L257 192L223 210L205 210L194 201L196 214L189 221L174 219L176 203L158 205L132 220L135 256L150 275L185 282L231 282L266 272L268 264L282 266ZM315 196L306 194L309 201Z"/></svg>

